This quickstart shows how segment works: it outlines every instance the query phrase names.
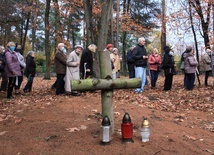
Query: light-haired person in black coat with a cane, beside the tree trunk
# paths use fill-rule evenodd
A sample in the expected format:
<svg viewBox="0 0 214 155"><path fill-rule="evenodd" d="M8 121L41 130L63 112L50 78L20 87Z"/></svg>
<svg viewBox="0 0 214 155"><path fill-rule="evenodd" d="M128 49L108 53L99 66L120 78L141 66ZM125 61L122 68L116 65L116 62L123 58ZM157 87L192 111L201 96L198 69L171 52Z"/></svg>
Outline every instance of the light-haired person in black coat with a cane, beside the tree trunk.
<svg viewBox="0 0 214 155"><path fill-rule="evenodd" d="M80 60L80 73L81 79L90 78L93 75L93 53L96 52L97 46L94 44L89 45L82 51Z"/></svg>

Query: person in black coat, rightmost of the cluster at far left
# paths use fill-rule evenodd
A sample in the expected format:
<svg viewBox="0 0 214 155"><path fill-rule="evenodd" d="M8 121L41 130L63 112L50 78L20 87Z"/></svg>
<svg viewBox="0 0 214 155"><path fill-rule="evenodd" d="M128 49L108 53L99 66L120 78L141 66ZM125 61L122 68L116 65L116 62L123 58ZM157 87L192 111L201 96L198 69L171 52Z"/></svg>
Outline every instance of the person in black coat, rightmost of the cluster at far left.
<svg viewBox="0 0 214 155"><path fill-rule="evenodd" d="M27 77L28 80L27 84L23 89L25 93L32 91L33 80L36 74L36 63L34 61L34 56L34 51L29 51L26 57L26 69L24 75Z"/></svg>

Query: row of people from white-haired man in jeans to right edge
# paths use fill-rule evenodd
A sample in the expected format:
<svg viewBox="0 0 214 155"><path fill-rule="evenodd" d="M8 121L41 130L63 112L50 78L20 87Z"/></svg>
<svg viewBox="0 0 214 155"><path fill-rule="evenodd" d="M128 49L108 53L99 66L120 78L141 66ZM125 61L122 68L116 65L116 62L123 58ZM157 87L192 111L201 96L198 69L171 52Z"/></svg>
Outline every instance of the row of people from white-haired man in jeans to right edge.
<svg viewBox="0 0 214 155"><path fill-rule="evenodd" d="M141 87L135 89L135 92L141 93L144 91L144 86L147 81L146 70L149 68L151 89L156 89L156 82L161 70L164 71L164 91L171 90L173 75L176 74L174 53L169 46L164 47L164 53L161 57L158 54L157 48L154 48L148 56L146 51L145 38L140 37L138 44L132 46L127 52L127 64L129 70L129 78L141 78ZM205 86L208 85L208 77L212 74L211 50L207 49L202 55L202 63L205 67ZM213 54L214 55L214 54ZM188 46L181 56L182 70L184 72L184 87L187 90L194 88L194 82L197 72L198 61L194 56L194 50Z"/></svg>

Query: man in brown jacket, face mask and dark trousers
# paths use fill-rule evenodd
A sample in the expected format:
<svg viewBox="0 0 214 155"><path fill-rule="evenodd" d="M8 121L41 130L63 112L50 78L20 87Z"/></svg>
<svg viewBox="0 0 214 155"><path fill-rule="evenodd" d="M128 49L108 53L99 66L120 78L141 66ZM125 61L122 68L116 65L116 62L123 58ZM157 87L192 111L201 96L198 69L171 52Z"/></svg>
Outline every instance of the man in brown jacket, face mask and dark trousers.
<svg viewBox="0 0 214 155"><path fill-rule="evenodd" d="M67 61L67 57L65 55L66 53L65 44L59 43L57 49L58 50L54 56L54 69L56 72L56 95L63 95L65 93L64 77L66 73L66 61Z"/></svg>

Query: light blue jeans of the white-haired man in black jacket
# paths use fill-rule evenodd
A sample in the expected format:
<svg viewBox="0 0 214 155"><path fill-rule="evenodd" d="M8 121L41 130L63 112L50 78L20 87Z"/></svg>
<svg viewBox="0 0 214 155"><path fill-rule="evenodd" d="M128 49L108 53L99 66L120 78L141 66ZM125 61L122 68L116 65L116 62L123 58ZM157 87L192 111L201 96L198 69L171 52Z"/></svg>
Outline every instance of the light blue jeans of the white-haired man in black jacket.
<svg viewBox="0 0 214 155"><path fill-rule="evenodd" d="M145 83L146 83L146 68L135 67L135 78L141 78L141 88L140 89L143 91Z"/></svg>

